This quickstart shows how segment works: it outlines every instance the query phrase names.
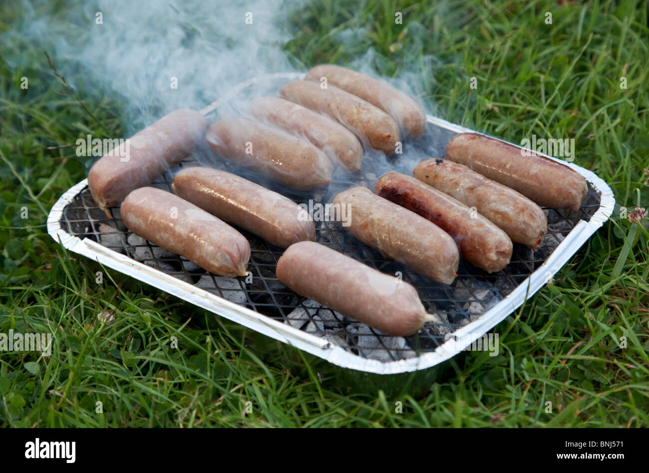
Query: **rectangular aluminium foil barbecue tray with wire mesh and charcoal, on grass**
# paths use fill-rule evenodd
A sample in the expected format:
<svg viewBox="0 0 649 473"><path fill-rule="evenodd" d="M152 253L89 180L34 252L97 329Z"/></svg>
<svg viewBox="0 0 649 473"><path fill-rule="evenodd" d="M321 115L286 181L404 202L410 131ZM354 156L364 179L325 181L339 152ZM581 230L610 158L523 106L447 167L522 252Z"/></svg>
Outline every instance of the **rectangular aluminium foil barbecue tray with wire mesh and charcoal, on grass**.
<svg viewBox="0 0 649 473"><path fill-rule="evenodd" d="M280 73L251 79L202 112L208 115L221 107L227 108L233 100L254 96L260 82L266 88L264 92L276 93L283 81L303 76ZM291 195L286 189L273 188L272 183L257 182L298 203L330 202L333 195L345 188L354 185L371 188L373 179L387 170L410 174L416 162L424 158L442 158L448 140L455 134L476 132L431 115L427 115L427 119L428 132L420 140L421 144L411 145L410 149L409 145L404 145L404 156L396 162L375 164L376 156L367 156L367 163L352 180L347 175L335 173L332 189L310 195ZM381 334L295 295L275 276L276 261L283 250L243 230L241 232L251 244L248 271L252 282L243 277L223 278L207 273L186 258L129 232L121 222L119 208L110 209L113 218L106 218L93 201L85 179L68 189L53 206L47 218L47 231L68 250L330 363L378 374L395 374L437 365L482 337L541 289L608 219L615 200L606 182L574 163L556 161L587 180L589 189L582 207L576 212L544 208L548 217L545 240L536 250L515 244L511 263L499 273L487 274L461 261L458 278L451 285L436 283L369 249L339 223L316 223L319 243L330 245L384 273L398 274L417 289L424 307L436 315L437 321L426 323L419 334L406 338ZM241 167L198 152L152 185L171 191L173 175L178 169L197 164L212 165L255 180L254 174L247 174L249 171Z"/></svg>

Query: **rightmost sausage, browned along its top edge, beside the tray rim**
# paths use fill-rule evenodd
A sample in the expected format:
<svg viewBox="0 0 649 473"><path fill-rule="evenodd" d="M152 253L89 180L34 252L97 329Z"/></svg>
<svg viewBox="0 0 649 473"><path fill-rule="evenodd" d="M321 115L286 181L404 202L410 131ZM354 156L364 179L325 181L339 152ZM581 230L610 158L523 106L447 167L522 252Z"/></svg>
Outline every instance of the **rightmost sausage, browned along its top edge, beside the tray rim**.
<svg viewBox="0 0 649 473"><path fill-rule="evenodd" d="M476 133L461 133L447 145L447 159L519 191L541 206L579 210L588 191L576 171L538 154Z"/></svg>

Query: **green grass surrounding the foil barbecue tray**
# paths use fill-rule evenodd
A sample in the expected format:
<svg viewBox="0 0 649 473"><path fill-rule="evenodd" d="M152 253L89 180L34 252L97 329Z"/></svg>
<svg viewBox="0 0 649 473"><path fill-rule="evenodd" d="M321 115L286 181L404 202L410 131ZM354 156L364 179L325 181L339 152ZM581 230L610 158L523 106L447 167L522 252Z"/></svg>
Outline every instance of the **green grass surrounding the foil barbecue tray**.
<svg viewBox="0 0 649 473"><path fill-rule="evenodd" d="M409 71L430 112L513 142L574 138L576 164L606 180L619 206L646 207L645 3L308 3L286 12L285 49L312 66L353 65L373 48L376 71ZM55 7L56 21L67 21L70 7ZM86 133L123 136L123 105L84 87L71 64L66 78L80 84L81 106L53 75L47 45L6 33L19 14L0 6L0 333L52 332L54 346L49 358L0 353L1 426L646 426L649 239L646 220L639 228L618 208L553 284L496 326L499 356L469 352L382 378L337 369L67 253L45 217L87 167L74 148L47 147ZM97 319L106 310L109 325Z"/></svg>

